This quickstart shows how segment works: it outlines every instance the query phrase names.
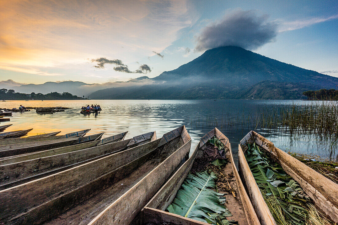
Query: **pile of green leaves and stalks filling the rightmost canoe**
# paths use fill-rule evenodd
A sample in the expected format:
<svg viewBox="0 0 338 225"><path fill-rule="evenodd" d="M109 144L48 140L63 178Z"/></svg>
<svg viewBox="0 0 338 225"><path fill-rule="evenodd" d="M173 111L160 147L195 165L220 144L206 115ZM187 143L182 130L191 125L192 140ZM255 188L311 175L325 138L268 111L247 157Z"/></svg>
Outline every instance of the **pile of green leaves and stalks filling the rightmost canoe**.
<svg viewBox="0 0 338 225"><path fill-rule="evenodd" d="M245 157L277 224L331 224L318 211L312 212L315 207L309 196L256 143L248 145Z"/></svg>

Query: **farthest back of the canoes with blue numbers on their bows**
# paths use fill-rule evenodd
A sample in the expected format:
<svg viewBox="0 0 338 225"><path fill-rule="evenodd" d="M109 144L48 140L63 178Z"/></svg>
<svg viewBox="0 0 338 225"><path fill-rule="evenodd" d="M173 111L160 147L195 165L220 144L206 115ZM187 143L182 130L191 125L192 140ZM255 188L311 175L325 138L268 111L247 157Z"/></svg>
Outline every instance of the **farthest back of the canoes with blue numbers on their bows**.
<svg viewBox="0 0 338 225"><path fill-rule="evenodd" d="M0 139L0 145L11 145L11 144L19 144L26 142L38 142L38 141L49 141L56 139L65 139L65 138L76 138L84 136L90 129L75 131L71 133L66 133L65 135L57 135L57 136L45 136L45 137L34 137L29 136L27 138L8 138L8 139Z"/></svg>

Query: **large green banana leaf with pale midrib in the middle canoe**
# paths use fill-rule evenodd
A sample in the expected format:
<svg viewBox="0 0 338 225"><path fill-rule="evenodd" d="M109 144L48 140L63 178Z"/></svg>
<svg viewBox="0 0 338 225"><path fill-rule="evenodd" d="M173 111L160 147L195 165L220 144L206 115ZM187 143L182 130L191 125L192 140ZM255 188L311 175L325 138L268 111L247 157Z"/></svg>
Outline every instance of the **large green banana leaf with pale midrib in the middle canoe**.
<svg viewBox="0 0 338 225"><path fill-rule="evenodd" d="M224 194L219 194L210 189L216 189L216 181L217 177L213 172L211 174L207 171L194 175L188 174L166 210L210 224L236 224L236 222L226 219L232 214L224 205ZM218 223L217 218L222 223Z"/></svg>

